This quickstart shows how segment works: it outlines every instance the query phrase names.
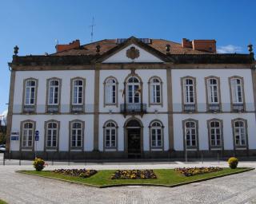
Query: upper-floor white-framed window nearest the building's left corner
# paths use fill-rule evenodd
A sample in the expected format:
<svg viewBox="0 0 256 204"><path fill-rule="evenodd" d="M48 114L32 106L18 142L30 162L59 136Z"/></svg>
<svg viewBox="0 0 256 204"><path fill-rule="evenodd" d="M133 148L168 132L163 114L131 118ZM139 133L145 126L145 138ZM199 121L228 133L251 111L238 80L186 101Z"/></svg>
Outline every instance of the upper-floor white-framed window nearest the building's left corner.
<svg viewBox="0 0 256 204"><path fill-rule="evenodd" d="M36 81L26 80L25 90L25 104L34 105L36 97Z"/></svg>

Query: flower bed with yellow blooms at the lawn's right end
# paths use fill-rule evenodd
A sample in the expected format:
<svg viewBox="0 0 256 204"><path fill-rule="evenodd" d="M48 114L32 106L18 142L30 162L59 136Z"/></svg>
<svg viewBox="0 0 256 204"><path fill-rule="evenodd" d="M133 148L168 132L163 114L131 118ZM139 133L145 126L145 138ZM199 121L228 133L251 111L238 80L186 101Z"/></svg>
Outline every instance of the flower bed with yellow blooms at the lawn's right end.
<svg viewBox="0 0 256 204"><path fill-rule="evenodd" d="M193 168L175 168L174 171L178 171L185 176L202 175L215 171L222 171L221 167L193 167Z"/></svg>

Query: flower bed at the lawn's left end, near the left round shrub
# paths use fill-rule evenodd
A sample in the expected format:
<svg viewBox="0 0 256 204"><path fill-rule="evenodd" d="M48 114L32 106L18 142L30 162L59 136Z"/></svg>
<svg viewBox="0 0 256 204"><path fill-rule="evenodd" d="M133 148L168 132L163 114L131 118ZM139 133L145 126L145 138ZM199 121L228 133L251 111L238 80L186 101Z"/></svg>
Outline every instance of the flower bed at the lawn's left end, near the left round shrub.
<svg viewBox="0 0 256 204"><path fill-rule="evenodd" d="M62 174L62 175L78 176L81 178L88 178L97 173L96 170L88 170L88 169L55 169L53 172L57 174Z"/></svg>

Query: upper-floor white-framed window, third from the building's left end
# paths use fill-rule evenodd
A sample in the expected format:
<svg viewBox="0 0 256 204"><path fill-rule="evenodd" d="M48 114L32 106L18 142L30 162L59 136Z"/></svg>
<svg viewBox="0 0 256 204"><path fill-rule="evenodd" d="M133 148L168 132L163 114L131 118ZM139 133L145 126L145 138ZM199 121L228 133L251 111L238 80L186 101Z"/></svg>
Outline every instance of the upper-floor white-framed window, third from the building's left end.
<svg viewBox="0 0 256 204"><path fill-rule="evenodd" d="M83 104L83 80L73 80L72 104Z"/></svg>

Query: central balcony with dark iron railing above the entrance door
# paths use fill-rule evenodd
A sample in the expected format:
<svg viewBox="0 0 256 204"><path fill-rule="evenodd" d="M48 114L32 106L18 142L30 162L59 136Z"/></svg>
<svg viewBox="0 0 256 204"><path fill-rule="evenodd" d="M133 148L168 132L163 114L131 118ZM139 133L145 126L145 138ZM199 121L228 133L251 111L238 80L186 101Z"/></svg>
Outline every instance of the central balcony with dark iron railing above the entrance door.
<svg viewBox="0 0 256 204"><path fill-rule="evenodd" d="M121 112L124 115L143 115L146 113L146 104L121 104Z"/></svg>

